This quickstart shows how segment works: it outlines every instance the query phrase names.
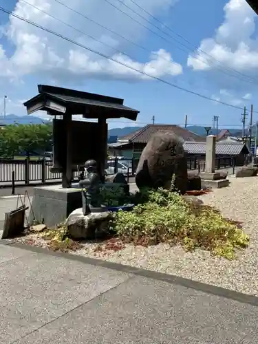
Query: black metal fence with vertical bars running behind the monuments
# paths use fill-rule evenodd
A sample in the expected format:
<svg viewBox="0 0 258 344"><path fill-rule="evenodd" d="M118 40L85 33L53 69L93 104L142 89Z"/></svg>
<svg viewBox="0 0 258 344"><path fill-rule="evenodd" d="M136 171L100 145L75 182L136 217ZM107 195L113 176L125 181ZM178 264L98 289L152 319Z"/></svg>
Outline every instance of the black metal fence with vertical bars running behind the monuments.
<svg viewBox="0 0 258 344"><path fill-rule="evenodd" d="M127 177L136 173L139 160L137 159L114 159L108 160L105 172L107 175L123 173ZM205 171L205 161L197 158L187 159L188 169L202 172ZM21 184L34 184L47 182L60 182L61 173L50 171L52 161L50 160L0 160L0 186L12 182L21 182ZM215 160L215 169L232 169L235 173L234 158L218 158ZM74 173L76 180L78 173ZM13 180L14 178L14 180Z"/></svg>

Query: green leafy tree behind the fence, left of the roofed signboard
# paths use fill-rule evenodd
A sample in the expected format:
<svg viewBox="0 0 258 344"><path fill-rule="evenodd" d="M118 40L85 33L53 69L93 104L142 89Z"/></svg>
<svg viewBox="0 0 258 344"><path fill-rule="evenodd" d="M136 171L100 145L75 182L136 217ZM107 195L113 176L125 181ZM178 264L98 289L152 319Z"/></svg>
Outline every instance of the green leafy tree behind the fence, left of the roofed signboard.
<svg viewBox="0 0 258 344"><path fill-rule="evenodd" d="M52 125L8 125L0 133L0 155L11 158L25 152L27 157L34 151L44 151L50 146Z"/></svg>

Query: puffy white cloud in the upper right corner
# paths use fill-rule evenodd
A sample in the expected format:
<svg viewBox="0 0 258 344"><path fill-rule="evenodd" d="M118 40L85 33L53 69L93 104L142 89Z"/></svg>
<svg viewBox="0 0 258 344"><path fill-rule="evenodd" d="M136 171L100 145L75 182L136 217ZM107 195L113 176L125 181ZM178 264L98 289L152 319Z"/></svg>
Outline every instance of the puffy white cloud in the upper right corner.
<svg viewBox="0 0 258 344"><path fill-rule="evenodd" d="M257 69L258 41L252 39L255 32L255 12L246 0L228 1L224 12L224 22L217 28L215 36L200 43L199 50L189 56L188 66L194 70L209 70L227 65L245 74Z"/></svg>

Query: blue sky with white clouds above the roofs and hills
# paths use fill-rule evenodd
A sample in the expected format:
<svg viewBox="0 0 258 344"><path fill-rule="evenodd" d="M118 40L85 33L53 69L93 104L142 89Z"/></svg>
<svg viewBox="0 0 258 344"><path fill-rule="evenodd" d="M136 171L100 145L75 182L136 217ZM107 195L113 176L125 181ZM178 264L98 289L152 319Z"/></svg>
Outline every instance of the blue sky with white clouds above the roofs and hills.
<svg viewBox="0 0 258 344"><path fill-rule="evenodd" d="M133 0L151 16L131 0L107 0L138 23L106 0L59 1L120 36L56 0L0 0L0 6L150 76L235 107L253 104L258 111L257 16L245 0ZM183 124L185 114L191 125L211 125L216 115L223 127L241 126L241 109L147 78L2 12L0 27L0 113L6 94L7 112L25 114L23 101L45 83L124 98L140 111L137 123L121 119L109 127L144 125L152 116L157 123Z"/></svg>

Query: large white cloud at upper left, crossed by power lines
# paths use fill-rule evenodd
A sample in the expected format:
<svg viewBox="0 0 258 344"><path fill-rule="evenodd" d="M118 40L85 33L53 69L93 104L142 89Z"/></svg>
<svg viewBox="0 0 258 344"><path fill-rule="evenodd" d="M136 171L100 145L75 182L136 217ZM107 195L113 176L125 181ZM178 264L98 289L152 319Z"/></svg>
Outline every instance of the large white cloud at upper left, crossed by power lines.
<svg viewBox="0 0 258 344"><path fill-rule="evenodd" d="M120 54L112 49L112 47L114 47L116 50L122 52L126 51L128 45L127 41L87 21L85 18L61 6L60 3L54 0L26 1L36 6L36 8L65 21L81 32L86 32L94 36L94 38L104 41L111 47L102 45L90 39L88 36L72 28L68 28L63 23L48 17L46 14L43 14L43 12L36 10L21 0L17 1L14 14L25 17L59 34L63 34L69 37L69 39L111 56L115 61L125 63L151 76L160 77L164 75L174 76L182 74L182 66L175 63L171 58L171 54L162 48L150 54L150 59L147 62L134 61L125 54ZM136 41L138 39L140 44L140 41L144 38L145 29L142 26L131 21L131 19L125 17L118 10L101 0L74 0L72 3L69 0L62 1L65 5L74 8L77 12L87 15L87 17L101 23L101 25L105 25L114 32L119 32L120 35L131 39L131 41ZM125 0L124 2L128 2L128 5L132 7L132 3L129 2L129 0ZM167 6L173 5L175 2L175 0L141 0L140 5L148 12L155 15L157 12L166 10ZM133 14L127 8L122 8L122 4L119 5L116 1L114 4L121 7L124 12L128 12L131 17L137 17L136 14ZM138 17L137 20L141 21ZM76 82L78 82L78 80L85 80L87 77L123 78L126 80L148 79L146 76L132 69L119 65L114 61L109 61L81 47L76 47L76 45L72 45L56 36L52 36L15 17L10 16L10 21L4 32L8 39L14 44L15 50L12 56L8 56L3 46L0 45L0 77L8 77L9 79L16 80L22 76L34 74L48 75L54 80L76 80Z"/></svg>

